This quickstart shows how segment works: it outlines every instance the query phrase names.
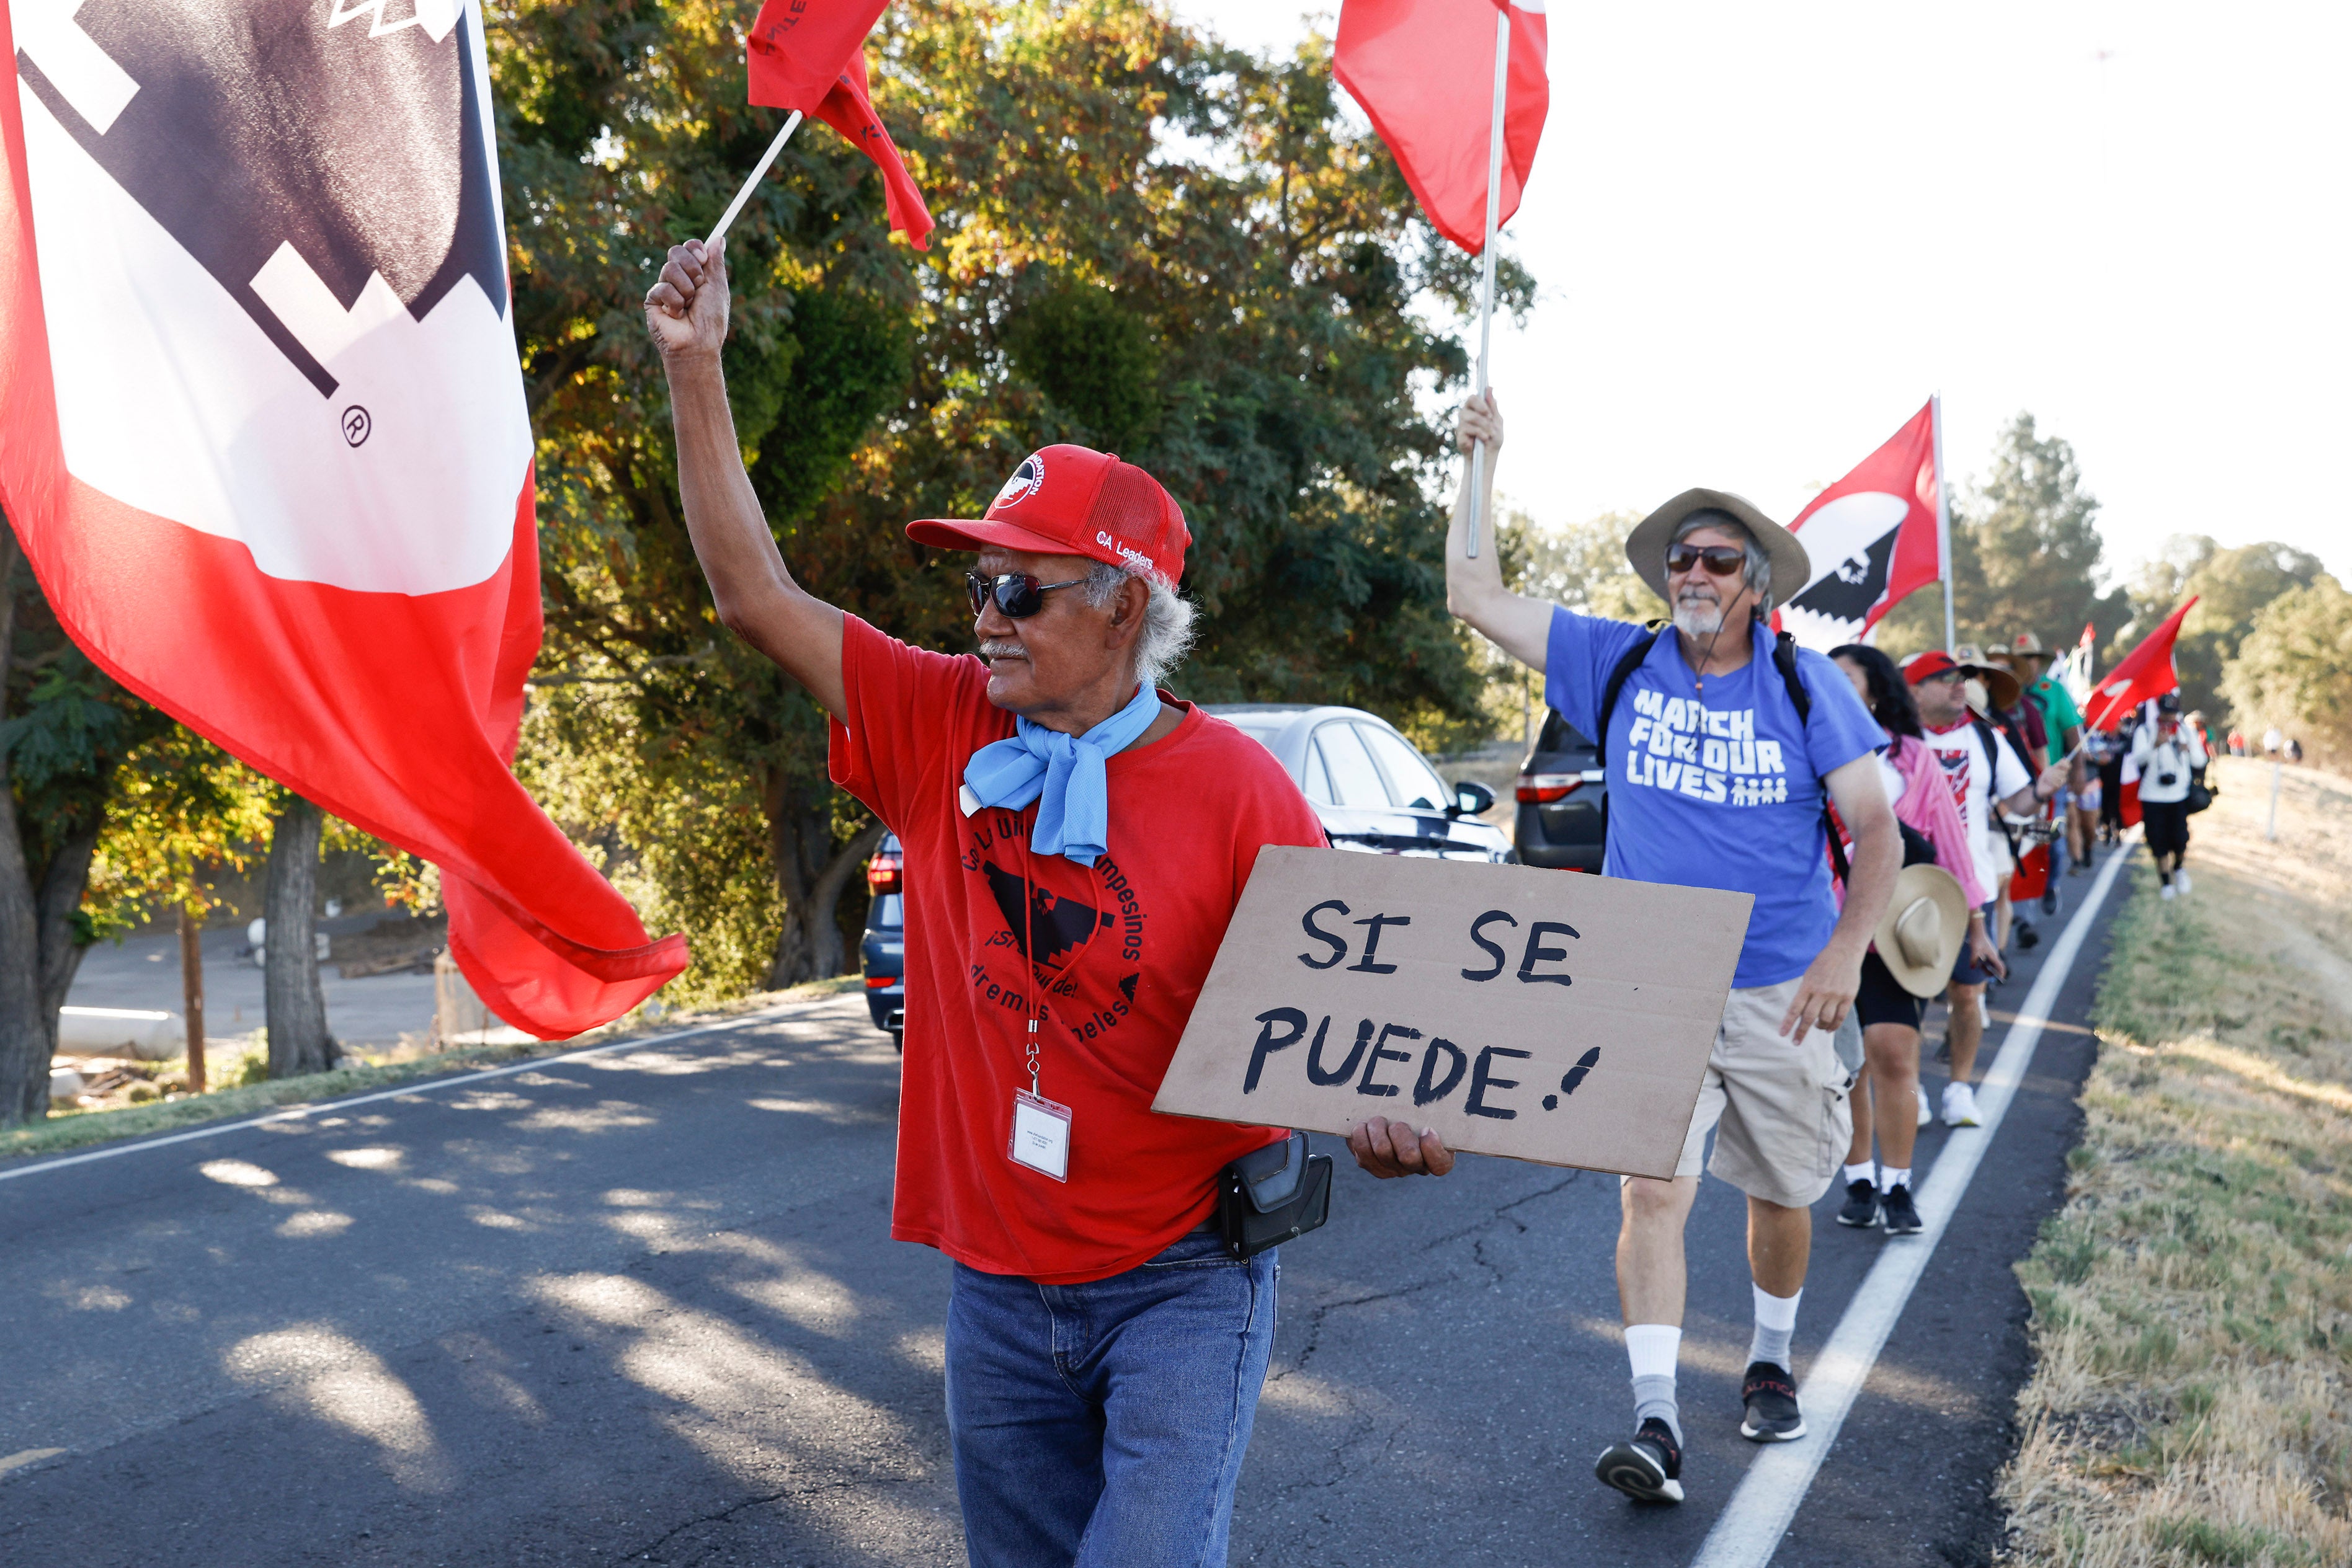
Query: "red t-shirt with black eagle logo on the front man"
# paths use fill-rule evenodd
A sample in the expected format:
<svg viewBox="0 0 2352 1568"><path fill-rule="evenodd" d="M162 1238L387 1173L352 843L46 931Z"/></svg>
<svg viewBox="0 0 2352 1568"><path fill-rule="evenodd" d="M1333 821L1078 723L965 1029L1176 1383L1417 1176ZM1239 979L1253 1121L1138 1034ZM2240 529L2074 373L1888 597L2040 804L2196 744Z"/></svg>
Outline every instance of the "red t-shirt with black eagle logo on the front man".
<svg viewBox="0 0 2352 1568"><path fill-rule="evenodd" d="M842 686L833 780L906 849L891 1237L1044 1284L1136 1267L1209 1218L1225 1161L1282 1138L1160 1117L1152 1095L1258 849L1322 846L1315 809L1263 745L1167 698L1176 731L1108 762L1110 853L1033 856L1035 806L957 806L971 752L1014 733L988 665L844 616ZM1070 1107L1068 1182L1004 1152L1040 992L1037 1091Z"/></svg>

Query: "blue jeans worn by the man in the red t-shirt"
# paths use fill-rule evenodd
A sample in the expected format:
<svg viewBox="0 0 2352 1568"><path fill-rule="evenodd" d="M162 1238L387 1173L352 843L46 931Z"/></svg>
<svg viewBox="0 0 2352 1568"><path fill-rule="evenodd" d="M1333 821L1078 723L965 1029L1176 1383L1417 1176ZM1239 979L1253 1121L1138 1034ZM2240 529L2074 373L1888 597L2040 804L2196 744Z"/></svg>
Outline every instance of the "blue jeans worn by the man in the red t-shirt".
<svg viewBox="0 0 2352 1568"><path fill-rule="evenodd" d="M971 1568L1221 1568L1275 1347L1275 1253L1192 1232L1082 1286L955 1265L948 1434Z"/></svg>

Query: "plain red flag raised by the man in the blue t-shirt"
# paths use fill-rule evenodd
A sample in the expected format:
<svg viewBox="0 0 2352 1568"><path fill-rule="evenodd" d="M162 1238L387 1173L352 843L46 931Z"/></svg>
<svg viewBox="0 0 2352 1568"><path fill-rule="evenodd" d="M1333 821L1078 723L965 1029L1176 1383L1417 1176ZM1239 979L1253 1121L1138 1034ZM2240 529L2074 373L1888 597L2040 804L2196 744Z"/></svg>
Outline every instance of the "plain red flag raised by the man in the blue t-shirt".
<svg viewBox="0 0 2352 1568"><path fill-rule="evenodd" d="M1494 0L1489 0L1494 2ZM1496 5L1494 9L1503 9ZM1552 85L1543 73L1543 0L1510 5L1510 87L1503 99L1503 221L1536 167ZM1494 12L1472 0L1345 0L1338 78L1446 240L1486 249L1486 153L1494 120Z"/></svg>

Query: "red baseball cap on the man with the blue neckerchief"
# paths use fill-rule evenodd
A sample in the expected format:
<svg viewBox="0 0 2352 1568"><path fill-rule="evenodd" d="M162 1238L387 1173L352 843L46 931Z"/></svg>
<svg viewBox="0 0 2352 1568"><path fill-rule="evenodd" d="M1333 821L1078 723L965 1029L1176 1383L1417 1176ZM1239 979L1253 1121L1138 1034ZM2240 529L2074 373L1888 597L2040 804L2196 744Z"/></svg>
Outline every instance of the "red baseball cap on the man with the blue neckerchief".
<svg viewBox="0 0 2352 1568"><path fill-rule="evenodd" d="M1192 543L1183 508L1160 480L1091 447L1040 447L1021 458L985 517L924 517L906 524L906 536L943 550L1084 555L1169 588L1183 578Z"/></svg>

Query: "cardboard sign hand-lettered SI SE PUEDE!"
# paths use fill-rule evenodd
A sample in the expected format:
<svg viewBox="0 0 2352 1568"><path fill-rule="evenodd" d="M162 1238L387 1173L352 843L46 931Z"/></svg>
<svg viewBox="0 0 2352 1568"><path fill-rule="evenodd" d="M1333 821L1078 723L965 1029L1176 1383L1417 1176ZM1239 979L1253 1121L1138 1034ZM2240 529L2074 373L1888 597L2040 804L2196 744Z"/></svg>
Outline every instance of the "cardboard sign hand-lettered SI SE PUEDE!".
<svg viewBox="0 0 2352 1568"><path fill-rule="evenodd" d="M1752 903L1268 844L1152 1110L1672 1175Z"/></svg>

